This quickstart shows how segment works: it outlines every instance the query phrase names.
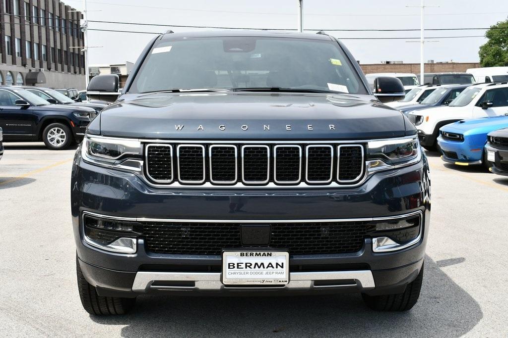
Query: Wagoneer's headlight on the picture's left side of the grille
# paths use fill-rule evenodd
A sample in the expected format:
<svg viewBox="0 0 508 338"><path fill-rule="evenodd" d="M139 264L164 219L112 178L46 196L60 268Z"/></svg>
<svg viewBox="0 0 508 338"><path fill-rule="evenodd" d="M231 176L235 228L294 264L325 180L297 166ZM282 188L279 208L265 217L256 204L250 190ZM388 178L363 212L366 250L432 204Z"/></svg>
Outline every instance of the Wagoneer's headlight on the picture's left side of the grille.
<svg viewBox="0 0 508 338"><path fill-rule="evenodd" d="M141 142L133 139L85 136L81 145L83 160L117 169L141 170L142 154Z"/></svg>

